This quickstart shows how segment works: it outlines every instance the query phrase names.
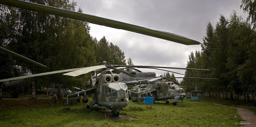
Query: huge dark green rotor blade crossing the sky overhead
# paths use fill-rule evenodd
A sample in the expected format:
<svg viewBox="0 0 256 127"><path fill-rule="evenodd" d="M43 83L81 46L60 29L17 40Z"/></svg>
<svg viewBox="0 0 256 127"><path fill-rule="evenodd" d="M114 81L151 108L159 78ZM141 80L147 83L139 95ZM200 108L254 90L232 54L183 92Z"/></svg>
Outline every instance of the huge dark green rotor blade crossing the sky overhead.
<svg viewBox="0 0 256 127"><path fill-rule="evenodd" d="M156 38L161 38L164 40L173 41L173 42L184 44L184 45L201 44L196 40L189 39L189 38L176 35L173 33L169 33L169 32L149 29L149 28L136 26L133 24L125 23L125 22L115 21L115 20L106 19L106 18L94 16L94 15L84 14L84 13L65 10L65 9L59 9L56 7L51 7L51 6L46 6L46 5L41 5L41 4L36 4L36 3L31 3L26 1L20 1L20 0L4 0L3 1L2 0L0 1L0 4L18 7L18 8L26 9L30 11L42 12L42 13L52 14L56 16L62 16L66 18L86 21L89 23L98 24L106 27L123 29L123 30L136 32L136 33L140 33L140 34L144 34L144 35L148 35Z"/></svg>

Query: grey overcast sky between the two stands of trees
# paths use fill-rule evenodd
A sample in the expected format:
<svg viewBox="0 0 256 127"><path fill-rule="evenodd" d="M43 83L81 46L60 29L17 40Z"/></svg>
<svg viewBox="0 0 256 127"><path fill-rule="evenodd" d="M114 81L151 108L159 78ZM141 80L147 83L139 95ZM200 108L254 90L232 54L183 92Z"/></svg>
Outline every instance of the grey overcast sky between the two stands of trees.
<svg viewBox="0 0 256 127"><path fill-rule="evenodd" d="M235 10L244 19L248 15L240 10L241 0L75 0L75 2L77 2L77 8L81 7L85 14L166 31L201 43L205 36L207 23L210 21L215 26L220 14L229 18L232 11ZM89 26L91 27L91 36L96 37L97 40L105 36L109 42L124 51L126 60L131 57L134 65L185 68L190 52L201 49L200 45L187 46L92 23ZM164 73L164 71L152 69L140 70L156 72L157 75ZM167 70L183 74L185 72L176 69ZM175 74L175 77L183 77L183 75Z"/></svg>

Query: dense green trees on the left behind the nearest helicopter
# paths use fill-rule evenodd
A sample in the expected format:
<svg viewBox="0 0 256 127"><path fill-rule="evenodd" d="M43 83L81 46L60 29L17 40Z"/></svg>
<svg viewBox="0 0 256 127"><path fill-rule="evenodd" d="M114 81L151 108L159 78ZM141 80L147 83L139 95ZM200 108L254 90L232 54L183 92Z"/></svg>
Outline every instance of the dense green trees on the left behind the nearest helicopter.
<svg viewBox="0 0 256 127"><path fill-rule="evenodd" d="M77 6L76 2L69 0L29 2L71 11L75 11ZM98 41L89 34L90 27L87 22L4 5L0 5L0 10L0 46L47 66L39 67L0 52L1 79L20 75L13 71L15 65L36 74L94 66L101 64L102 61L107 61L108 64L126 64L125 54L118 46L108 42L105 37ZM82 10L79 8L78 12ZM35 87L54 85L57 85L59 90L60 87L71 90L73 87L82 88L90 75L65 77L60 73L35 77L33 80L36 85L32 89L34 91ZM2 85L3 82L0 87Z"/></svg>

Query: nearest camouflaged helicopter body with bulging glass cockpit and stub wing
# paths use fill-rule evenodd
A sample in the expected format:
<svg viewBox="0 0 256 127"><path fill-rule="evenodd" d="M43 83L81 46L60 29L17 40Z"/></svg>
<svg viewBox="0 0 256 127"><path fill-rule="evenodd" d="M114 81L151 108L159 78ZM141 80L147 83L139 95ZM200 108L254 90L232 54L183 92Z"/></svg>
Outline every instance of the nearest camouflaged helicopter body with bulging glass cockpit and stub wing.
<svg viewBox="0 0 256 127"><path fill-rule="evenodd" d="M80 102L79 96L84 96L82 102L87 103L88 98L86 98L86 95L94 94L95 99L86 108L93 108L95 104L107 107L107 111L114 108L115 110L111 114L114 117L118 117L121 109L129 103L127 86L120 81L121 78L118 74L114 74L110 70L103 70L99 77L97 77L95 84L91 77L90 89L67 95L67 104L69 104L69 98L72 97L78 97L77 102Z"/></svg>

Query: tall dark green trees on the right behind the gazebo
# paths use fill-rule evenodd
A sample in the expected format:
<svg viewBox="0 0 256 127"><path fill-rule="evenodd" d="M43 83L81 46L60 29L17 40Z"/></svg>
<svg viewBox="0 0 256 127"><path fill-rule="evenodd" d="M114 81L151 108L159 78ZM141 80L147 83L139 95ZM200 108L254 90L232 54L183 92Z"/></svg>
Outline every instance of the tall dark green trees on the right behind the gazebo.
<svg viewBox="0 0 256 127"><path fill-rule="evenodd" d="M248 1L243 0L243 2L246 4L245 2ZM247 6L244 6L244 9L248 10ZM254 16L251 15L251 21L255 21ZM254 25L255 22L243 20L235 11L229 18L220 15L219 22L215 27L209 22L201 50L189 54L187 68L209 69L210 71L187 70L185 77L206 77L219 80L184 79L181 84L187 86L187 91L194 90L197 86L198 89L208 92L208 94L227 93L234 100L233 93L235 93L238 96L247 95L247 99L250 100L249 94L256 92L255 66L227 76L222 76L222 74L256 63ZM212 95L210 94L210 96Z"/></svg>

